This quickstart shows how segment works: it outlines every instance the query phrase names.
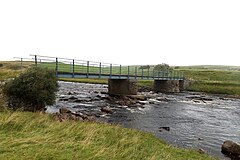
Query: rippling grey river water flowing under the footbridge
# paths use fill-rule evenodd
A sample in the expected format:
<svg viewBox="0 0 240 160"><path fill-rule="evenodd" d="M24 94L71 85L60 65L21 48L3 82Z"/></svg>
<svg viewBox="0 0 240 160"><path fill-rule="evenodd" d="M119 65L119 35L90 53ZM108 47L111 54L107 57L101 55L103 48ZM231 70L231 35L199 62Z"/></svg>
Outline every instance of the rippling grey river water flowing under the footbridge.
<svg viewBox="0 0 240 160"><path fill-rule="evenodd" d="M240 142L239 99L188 92L144 92L140 94L147 97L146 101L122 106L105 99L108 96L103 94L107 92L106 85L59 83L57 103L48 107L48 112L57 112L61 107L100 112L101 107L108 106L114 113L101 115L108 122L151 132L178 147L203 149L221 159L229 159L221 153L225 140ZM72 97L78 101L69 101Z"/></svg>

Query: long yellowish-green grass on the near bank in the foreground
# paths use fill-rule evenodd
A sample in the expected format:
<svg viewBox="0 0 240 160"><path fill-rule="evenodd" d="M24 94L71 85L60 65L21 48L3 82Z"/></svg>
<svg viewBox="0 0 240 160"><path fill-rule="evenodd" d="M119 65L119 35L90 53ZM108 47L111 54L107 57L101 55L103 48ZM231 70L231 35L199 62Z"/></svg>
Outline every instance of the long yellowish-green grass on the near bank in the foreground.
<svg viewBox="0 0 240 160"><path fill-rule="evenodd" d="M0 159L210 160L155 136L109 124L65 121L51 115L2 112Z"/></svg>

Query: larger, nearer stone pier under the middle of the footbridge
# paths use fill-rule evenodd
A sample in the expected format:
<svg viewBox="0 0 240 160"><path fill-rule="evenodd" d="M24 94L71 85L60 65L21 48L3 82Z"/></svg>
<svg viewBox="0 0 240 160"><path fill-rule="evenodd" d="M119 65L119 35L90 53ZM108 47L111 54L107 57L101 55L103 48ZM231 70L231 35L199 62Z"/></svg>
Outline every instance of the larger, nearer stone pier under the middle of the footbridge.
<svg viewBox="0 0 240 160"><path fill-rule="evenodd" d="M137 95L137 80L108 79L108 93L110 95Z"/></svg>

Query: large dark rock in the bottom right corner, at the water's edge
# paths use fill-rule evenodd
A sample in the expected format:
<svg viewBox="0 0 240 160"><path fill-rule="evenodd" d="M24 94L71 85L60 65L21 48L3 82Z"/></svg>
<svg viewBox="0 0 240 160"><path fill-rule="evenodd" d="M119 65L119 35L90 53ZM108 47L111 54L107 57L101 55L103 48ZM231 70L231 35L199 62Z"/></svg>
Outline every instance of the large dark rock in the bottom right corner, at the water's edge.
<svg viewBox="0 0 240 160"><path fill-rule="evenodd" d="M222 145L222 153L227 155L240 155L240 145L233 141L225 141Z"/></svg>

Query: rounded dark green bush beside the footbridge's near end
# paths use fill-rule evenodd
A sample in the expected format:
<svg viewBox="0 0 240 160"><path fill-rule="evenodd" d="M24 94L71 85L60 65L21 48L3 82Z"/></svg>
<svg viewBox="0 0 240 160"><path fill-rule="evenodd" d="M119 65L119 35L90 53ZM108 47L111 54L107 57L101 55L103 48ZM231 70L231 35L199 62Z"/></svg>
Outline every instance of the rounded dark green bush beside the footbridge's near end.
<svg viewBox="0 0 240 160"><path fill-rule="evenodd" d="M57 90L54 71L36 67L28 69L3 86L8 107L27 111L39 111L46 105L53 105Z"/></svg>

